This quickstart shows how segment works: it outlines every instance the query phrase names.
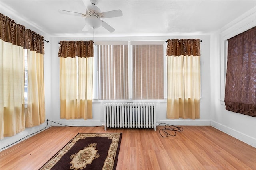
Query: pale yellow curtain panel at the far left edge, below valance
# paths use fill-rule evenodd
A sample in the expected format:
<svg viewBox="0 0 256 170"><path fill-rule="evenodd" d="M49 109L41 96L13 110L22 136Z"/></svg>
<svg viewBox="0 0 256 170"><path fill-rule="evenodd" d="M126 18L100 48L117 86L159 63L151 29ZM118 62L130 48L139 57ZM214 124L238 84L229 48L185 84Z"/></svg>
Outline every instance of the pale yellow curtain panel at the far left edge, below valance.
<svg viewBox="0 0 256 170"><path fill-rule="evenodd" d="M0 40L1 139L25 129L24 49Z"/></svg>

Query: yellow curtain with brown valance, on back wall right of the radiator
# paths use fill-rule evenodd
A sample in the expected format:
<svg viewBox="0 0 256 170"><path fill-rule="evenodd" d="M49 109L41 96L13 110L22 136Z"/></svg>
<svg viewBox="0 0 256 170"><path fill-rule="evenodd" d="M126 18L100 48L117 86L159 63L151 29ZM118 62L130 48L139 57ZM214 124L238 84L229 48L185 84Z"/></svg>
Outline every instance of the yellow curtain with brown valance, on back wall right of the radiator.
<svg viewBox="0 0 256 170"><path fill-rule="evenodd" d="M166 56L166 117L200 118L200 40L169 39Z"/></svg>

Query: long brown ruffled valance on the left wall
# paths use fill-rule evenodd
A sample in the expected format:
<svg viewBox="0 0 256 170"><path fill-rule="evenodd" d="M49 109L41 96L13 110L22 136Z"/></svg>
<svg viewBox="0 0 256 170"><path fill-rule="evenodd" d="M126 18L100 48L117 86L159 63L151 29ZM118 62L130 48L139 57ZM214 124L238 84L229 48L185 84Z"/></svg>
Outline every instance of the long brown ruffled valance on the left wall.
<svg viewBox="0 0 256 170"><path fill-rule="evenodd" d="M37 53L44 54L44 37L26 29L23 25L17 24L14 20L1 13L0 23L0 39L5 42L12 43L36 51Z"/></svg>

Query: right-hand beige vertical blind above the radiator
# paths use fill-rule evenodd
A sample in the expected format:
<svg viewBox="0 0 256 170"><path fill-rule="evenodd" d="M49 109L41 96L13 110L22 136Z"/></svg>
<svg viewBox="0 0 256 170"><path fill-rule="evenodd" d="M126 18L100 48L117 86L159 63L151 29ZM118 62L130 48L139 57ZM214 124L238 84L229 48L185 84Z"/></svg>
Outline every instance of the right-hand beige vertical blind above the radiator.
<svg viewBox="0 0 256 170"><path fill-rule="evenodd" d="M163 99L163 45L133 45L133 99Z"/></svg>

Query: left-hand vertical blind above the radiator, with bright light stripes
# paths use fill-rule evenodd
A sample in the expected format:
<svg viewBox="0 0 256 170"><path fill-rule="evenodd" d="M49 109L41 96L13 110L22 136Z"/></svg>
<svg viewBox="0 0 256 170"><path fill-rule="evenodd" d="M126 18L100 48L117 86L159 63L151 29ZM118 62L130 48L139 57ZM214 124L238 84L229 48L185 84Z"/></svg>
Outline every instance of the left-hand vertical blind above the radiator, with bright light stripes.
<svg viewBox="0 0 256 170"><path fill-rule="evenodd" d="M128 99L128 45L98 45L99 99Z"/></svg>

